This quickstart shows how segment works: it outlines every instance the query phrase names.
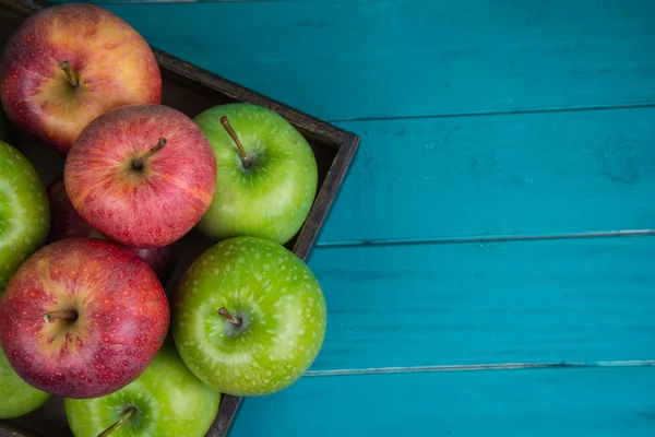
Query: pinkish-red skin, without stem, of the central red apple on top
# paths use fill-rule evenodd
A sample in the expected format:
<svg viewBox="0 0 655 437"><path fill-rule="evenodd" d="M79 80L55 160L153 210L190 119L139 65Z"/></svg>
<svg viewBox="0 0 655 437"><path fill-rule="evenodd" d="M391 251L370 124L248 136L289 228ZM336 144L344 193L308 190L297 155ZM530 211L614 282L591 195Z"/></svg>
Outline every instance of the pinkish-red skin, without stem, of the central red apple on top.
<svg viewBox="0 0 655 437"><path fill-rule="evenodd" d="M141 170L133 164L158 144ZM216 158L200 128L164 105L130 105L92 121L71 147L64 184L75 211L109 239L163 247L195 226L212 202Z"/></svg>

